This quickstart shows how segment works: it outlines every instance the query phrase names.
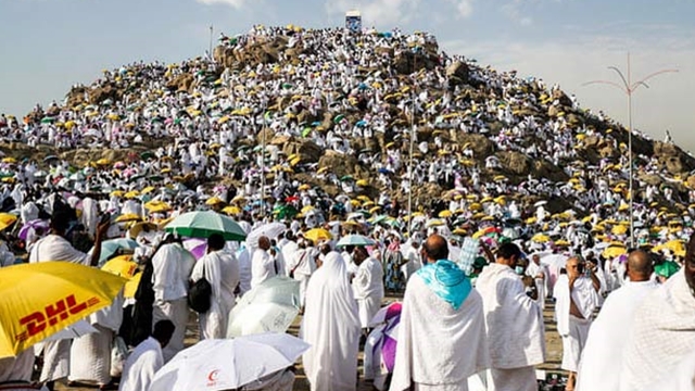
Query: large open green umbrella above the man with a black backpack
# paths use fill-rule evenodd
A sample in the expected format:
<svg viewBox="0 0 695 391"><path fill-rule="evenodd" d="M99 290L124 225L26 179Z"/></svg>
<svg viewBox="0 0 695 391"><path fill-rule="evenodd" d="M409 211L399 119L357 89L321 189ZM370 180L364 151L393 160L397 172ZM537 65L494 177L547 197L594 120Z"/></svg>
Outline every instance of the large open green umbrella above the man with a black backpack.
<svg viewBox="0 0 695 391"><path fill-rule="evenodd" d="M164 230L188 238L208 238L213 234L219 234L225 240L247 239L247 234L239 224L213 211L184 213L167 224Z"/></svg>

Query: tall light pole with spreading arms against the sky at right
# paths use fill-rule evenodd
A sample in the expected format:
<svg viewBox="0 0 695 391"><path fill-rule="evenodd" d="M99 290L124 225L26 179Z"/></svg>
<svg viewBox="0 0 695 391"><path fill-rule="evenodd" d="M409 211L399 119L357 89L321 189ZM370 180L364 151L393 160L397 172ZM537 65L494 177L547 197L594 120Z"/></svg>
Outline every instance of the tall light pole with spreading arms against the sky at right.
<svg viewBox="0 0 695 391"><path fill-rule="evenodd" d="M612 86L615 88L618 88L619 90L621 90L623 93L626 93L628 96L628 164L630 165L630 168L628 171L628 175L630 176L629 179L629 188L630 188L630 247L634 249L635 243L634 243L634 192L633 192L633 177L634 177L634 168L632 166L632 93L634 93L634 91L640 87L643 86L645 88L649 88L649 86L646 84L646 81L650 78L653 78L654 76L664 74L664 73L674 73L678 72L678 70L661 70L661 71L657 71L655 73L652 73L649 75L647 75L646 77L644 77L641 80L637 80L635 83L632 83L632 71L630 68L630 53L628 53L628 77L626 78L626 76L622 74L622 72L620 72L620 70L616 66L609 66L609 70L614 71L615 73L618 74L618 76L620 76L620 80L622 81L622 85L618 84L618 83L614 83L614 81L608 81L608 80L594 80L594 81L589 81L589 83L584 83L583 86L587 86L587 85L592 85L592 84L605 84L605 85L609 85Z"/></svg>

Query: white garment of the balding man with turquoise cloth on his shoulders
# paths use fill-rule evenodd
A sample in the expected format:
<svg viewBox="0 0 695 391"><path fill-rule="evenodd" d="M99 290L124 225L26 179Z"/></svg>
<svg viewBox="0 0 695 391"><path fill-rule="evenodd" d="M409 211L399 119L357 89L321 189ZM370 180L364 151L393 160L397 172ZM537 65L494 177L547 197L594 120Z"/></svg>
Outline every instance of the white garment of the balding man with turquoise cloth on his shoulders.
<svg viewBox="0 0 695 391"><path fill-rule="evenodd" d="M391 391L467 391L489 367L482 299L473 289L458 310L415 274L405 289ZM462 354L462 352L466 352Z"/></svg>

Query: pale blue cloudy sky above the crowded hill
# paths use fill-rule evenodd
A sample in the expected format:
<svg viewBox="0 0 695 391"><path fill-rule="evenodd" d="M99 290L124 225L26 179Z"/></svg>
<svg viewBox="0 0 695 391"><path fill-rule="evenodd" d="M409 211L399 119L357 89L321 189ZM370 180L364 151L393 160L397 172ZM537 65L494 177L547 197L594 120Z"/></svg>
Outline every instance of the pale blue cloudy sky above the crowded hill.
<svg viewBox="0 0 695 391"><path fill-rule="evenodd" d="M348 10L363 25L429 31L447 53L542 78L583 108L628 124L615 66L648 88L632 93L633 125L669 129L695 151L695 0L0 0L0 112L24 115L75 83L134 61L179 62L254 24L332 27Z"/></svg>

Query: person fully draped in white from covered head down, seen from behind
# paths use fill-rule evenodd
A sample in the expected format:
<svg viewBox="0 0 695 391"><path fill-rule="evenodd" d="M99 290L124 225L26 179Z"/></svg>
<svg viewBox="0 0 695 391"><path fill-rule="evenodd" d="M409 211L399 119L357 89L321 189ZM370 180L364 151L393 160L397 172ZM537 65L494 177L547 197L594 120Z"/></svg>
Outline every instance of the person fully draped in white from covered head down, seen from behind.
<svg viewBox="0 0 695 391"><path fill-rule="evenodd" d="M359 331L345 262L339 253L330 252L308 281L300 330L312 345L302 358L312 390L356 389Z"/></svg>

